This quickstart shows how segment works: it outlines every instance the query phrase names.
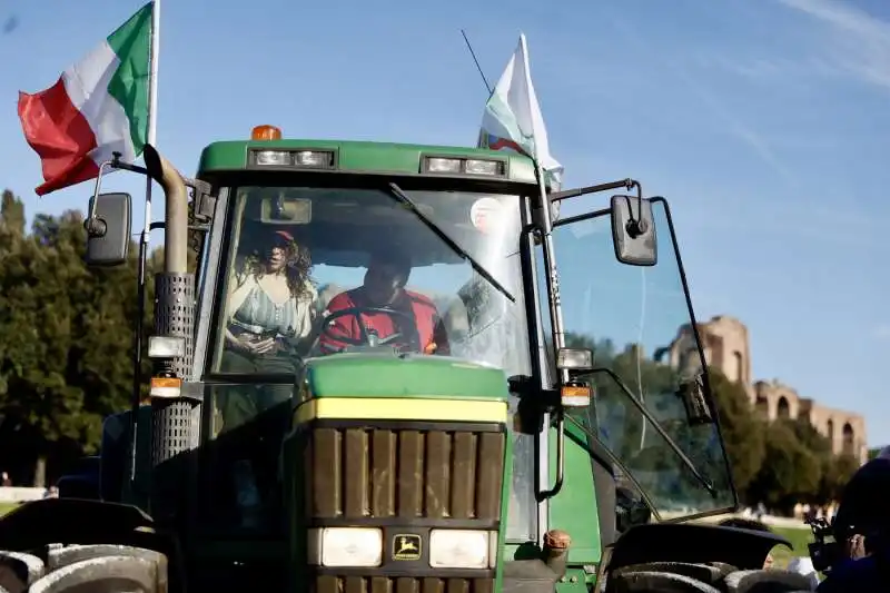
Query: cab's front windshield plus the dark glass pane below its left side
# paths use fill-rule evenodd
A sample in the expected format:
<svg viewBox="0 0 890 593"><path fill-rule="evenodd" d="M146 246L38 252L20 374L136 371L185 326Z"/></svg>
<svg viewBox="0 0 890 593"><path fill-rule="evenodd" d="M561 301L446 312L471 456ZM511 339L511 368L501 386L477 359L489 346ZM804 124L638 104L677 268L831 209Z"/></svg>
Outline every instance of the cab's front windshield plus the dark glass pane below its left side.
<svg viewBox="0 0 890 593"><path fill-rule="evenodd" d="M278 452L300 380L319 365L363 357L368 376L343 377L355 382L380 380L386 368L397 382L426 357L428 368L531 373L518 195L438 180L324 181L246 182L224 194L216 278L205 279L215 284L212 323L198 338L205 374L218 377L204 409L214 486L199 524L217 533L281 530ZM390 269L393 260L406 269ZM373 294L374 274L392 293ZM348 307L330 310L338 297Z"/></svg>

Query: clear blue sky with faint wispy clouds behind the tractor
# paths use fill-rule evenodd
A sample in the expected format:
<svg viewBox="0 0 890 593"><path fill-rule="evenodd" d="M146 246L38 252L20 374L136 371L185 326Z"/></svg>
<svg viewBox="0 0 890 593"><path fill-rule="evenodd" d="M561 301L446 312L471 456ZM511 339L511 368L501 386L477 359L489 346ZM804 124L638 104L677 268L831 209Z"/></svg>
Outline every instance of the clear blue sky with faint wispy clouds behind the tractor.
<svg viewBox="0 0 890 593"><path fill-rule="evenodd" d="M0 185L37 201L16 116L141 6L0 0ZM384 8L385 7L385 8ZM498 8L500 7L500 8ZM890 442L890 6L882 0L599 0L550 6L164 2L158 144L200 148L275 123L289 136L471 145L485 90L528 38L566 185L634 177L672 204L701 319L741 318L756 377L867 415ZM62 33L63 32L63 33ZM118 176L107 187L139 194ZM157 240L157 238L156 238Z"/></svg>

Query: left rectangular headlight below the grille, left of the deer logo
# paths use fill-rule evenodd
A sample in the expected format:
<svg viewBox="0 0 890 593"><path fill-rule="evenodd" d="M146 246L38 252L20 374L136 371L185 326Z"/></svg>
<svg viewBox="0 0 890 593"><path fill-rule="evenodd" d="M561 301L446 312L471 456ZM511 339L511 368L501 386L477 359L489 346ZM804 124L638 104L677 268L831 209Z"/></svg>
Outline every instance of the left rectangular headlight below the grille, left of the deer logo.
<svg viewBox="0 0 890 593"><path fill-rule="evenodd" d="M315 566L379 566L383 532L369 527L309 530L308 560Z"/></svg>

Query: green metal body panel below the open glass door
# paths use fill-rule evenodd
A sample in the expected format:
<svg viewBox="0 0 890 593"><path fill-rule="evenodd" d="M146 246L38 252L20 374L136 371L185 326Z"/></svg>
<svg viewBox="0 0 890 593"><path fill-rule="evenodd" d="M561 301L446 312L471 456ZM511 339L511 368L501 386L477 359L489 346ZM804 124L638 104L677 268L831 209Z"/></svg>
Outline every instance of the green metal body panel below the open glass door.
<svg viewBox="0 0 890 593"><path fill-rule="evenodd" d="M566 432L577 431L566 423ZM586 441L586 435L577 435ZM556 429L550 431L550 480L556 480ZM596 564L603 555L600 540L600 515L593 485L591 455L577 443L565 438L565 475L563 488L550 501L551 530L563 530L572 537L571 564Z"/></svg>

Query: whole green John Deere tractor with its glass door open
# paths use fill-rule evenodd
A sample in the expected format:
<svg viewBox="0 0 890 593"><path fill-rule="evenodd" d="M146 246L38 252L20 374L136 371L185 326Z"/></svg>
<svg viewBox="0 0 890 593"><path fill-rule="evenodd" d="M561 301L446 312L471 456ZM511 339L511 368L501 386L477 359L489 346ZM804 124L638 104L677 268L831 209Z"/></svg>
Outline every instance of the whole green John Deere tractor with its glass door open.
<svg viewBox="0 0 890 593"><path fill-rule="evenodd" d="M738 501L663 198L271 126L196 179L145 162L103 169L165 191L150 397L106 421L92 473L0 520L0 591L807 589L762 570L781 537L689 521ZM100 180L88 259L118 265L131 200ZM374 281L431 313L356 297Z"/></svg>

